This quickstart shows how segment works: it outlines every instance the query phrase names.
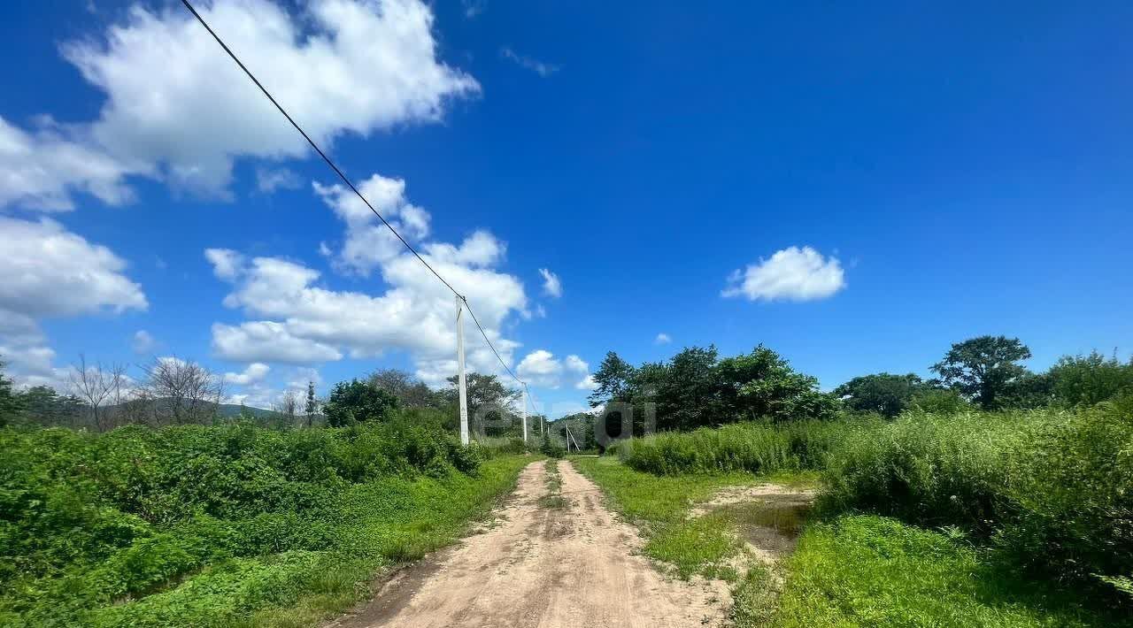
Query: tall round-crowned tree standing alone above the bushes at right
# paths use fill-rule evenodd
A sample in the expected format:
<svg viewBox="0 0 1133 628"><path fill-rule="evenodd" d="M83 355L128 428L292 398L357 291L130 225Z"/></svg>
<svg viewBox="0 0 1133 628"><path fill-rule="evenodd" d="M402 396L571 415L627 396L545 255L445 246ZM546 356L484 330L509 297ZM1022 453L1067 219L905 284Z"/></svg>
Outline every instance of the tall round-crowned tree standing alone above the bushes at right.
<svg viewBox="0 0 1133 628"><path fill-rule="evenodd" d="M983 410L1000 407L1012 385L1026 369L1017 364L1031 356L1019 338L979 336L952 345L944 360L932 364L946 386L973 399Z"/></svg>

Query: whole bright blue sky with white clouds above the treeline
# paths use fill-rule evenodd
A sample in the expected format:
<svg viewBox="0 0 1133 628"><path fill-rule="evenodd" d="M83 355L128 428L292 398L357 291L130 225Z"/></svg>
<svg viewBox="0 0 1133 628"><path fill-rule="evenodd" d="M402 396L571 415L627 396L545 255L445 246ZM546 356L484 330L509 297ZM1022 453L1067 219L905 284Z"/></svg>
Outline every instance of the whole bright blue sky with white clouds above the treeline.
<svg viewBox="0 0 1133 628"><path fill-rule="evenodd" d="M979 334L1036 368L1133 351L1128 3L201 8L552 414L611 349L765 343L824 388L926 373ZM179 3L0 11L20 381L176 354L264 405L312 377L451 372L443 286Z"/></svg>

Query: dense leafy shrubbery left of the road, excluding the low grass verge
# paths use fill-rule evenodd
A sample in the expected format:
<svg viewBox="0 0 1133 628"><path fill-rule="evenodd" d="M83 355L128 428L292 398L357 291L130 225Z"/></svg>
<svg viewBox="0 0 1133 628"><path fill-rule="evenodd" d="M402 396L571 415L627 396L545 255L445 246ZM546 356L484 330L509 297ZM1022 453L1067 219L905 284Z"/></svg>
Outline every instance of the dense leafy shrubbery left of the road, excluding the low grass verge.
<svg viewBox="0 0 1133 628"><path fill-rule="evenodd" d="M3 625L17 616L74 625L75 613L162 591L208 565L341 549L351 541L344 530L359 524L344 516L368 494L359 490L406 487L367 498L363 515L380 515L376 502L411 494L423 479L475 475L487 457L399 416L295 431L2 429L0 450Z"/></svg>

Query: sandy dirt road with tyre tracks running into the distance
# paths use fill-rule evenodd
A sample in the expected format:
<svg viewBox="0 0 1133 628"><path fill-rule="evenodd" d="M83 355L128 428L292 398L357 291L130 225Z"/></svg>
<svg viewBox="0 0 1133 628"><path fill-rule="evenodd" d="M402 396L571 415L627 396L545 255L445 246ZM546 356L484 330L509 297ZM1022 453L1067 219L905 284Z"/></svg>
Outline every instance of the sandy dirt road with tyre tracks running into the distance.
<svg viewBox="0 0 1133 628"><path fill-rule="evenodd" d="M561 508L544 463L528 465L496 525L387 582L373 601L330 626L429 628L684 628L719 626L727 586L666 578L637 550L637 531L605 508L569 462Z"/></svg>

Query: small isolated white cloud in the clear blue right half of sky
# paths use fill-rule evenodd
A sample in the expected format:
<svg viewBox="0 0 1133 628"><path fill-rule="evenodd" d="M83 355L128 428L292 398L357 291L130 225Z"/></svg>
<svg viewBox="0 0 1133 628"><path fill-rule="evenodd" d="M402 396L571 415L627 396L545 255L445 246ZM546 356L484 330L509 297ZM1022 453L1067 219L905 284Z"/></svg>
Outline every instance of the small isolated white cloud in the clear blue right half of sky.
<svg viewBox="0 0 1133 628"><path fill-rule="evenodd" d="M845 287L845 272L835 257L824 257L810 247L776 251L759 264L735 270L727 279L724 296L750 301L810 301L830 296Z"/></svg>

